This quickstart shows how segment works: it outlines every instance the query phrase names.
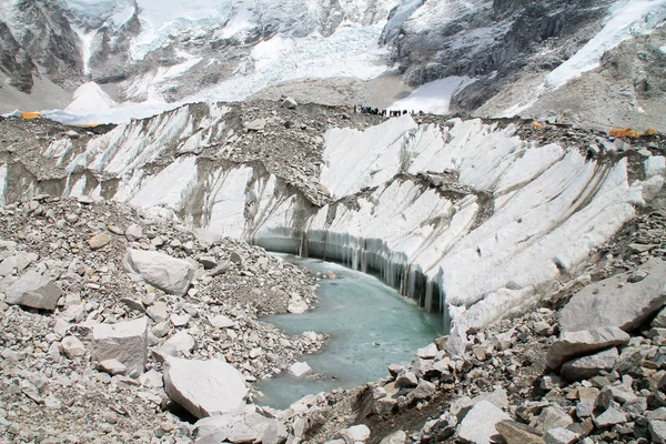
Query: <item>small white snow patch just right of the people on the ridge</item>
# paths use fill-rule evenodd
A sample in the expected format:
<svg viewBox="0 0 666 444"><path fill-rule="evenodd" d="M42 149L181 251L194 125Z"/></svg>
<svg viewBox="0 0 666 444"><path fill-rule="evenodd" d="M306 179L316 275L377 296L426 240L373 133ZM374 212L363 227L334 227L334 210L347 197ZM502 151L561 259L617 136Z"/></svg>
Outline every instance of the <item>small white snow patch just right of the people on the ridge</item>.
<svg viewBox="0 0 666 444"><path fill-rule="evenodd" d="M451 99L475 81L476 79L468 77L447 77L435 80L416 88L408 97L394 102L389 108L446 114Z"/></svg>

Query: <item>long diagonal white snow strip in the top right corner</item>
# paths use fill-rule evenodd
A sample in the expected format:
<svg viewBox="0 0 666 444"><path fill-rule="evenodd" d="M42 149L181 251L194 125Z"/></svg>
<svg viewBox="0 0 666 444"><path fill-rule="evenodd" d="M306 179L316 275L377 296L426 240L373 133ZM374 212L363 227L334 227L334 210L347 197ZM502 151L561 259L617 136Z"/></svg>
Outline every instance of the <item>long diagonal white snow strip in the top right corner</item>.
<svg viewBox="0 0 666 444"><path fill-rule="evenodd" d="M599 33L546 77L546 87L562 87L597 68L602 56L624 40L647 34L662 26L666 19L666 0L619 1L609 9L609 13Z"/></svg>

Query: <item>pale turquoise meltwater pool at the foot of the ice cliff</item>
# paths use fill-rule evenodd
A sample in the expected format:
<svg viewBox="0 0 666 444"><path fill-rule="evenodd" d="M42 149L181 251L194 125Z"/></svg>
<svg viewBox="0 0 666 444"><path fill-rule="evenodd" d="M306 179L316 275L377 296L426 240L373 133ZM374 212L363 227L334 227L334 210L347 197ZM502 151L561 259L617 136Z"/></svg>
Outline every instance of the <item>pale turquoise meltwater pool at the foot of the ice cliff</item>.
<svg viewBox="0 0 666 444"><path fill-rule="evenodd" d="M289 334L326 333L324 349L305 361L317 377L295 379L283 372L262 380L258 404L286 408L306 394L350 389L385 377L390 364L407 364L416 350L442 334L442 316L426 313L379 279L331 262L283 256L312 272L336 279L320 281L316 309L303 314L278 314L262 321Z"/></svg>

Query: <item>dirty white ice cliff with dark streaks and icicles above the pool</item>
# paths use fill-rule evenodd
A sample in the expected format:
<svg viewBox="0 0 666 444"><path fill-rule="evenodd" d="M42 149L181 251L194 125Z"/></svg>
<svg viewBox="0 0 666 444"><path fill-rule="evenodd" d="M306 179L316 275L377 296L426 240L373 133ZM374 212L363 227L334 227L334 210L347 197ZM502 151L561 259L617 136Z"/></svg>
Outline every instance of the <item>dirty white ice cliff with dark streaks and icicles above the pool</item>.
<svg viewBox="0 0 666 444"><path fill-rule="evenodd" d="M65 195L125 201L270 250L379 271L443 312L453 345L569 281L644 204L626 157L588 160L522 140L513 124L404 115L323 134L320 181L332 199L317 206L263 161L230 158L230 111L189 105L84 147L53 141L43 154L64 168ZM663 158L648 158L652 192L664 170Z"/></svg>

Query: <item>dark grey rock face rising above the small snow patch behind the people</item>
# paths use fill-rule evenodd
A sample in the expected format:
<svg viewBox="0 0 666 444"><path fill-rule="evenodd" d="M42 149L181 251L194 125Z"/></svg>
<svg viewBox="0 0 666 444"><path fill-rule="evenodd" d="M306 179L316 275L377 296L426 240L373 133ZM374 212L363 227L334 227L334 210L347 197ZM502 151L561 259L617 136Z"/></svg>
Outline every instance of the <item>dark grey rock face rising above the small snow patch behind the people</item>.
<svg viewBox="0 0 666 444"><path fill-rule="evenodd" d="M521 70L553 70L572 57L599 30L608 4L496 0L434 28L420 29L407 19L392 34L400 37L392 41L394 58L412 85L450 75L477 78L452 101L452 111L470 112Z"/></svg>

